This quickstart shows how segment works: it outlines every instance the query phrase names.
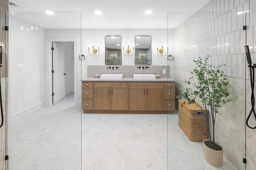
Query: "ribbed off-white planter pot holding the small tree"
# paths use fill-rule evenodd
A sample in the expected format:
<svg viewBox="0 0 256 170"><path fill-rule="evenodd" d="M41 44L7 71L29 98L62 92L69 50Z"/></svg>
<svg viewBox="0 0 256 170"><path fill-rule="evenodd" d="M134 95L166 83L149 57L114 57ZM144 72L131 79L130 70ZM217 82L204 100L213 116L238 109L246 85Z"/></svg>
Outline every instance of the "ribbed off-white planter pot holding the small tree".
<svg viewBox="0 0 256 170"><path fill-rule="evenodd" d="M214 150L214 149L210 149L209 147L207 147L204 144L205 141L210 141L210 140L205 139L203 141L205 160L212 166L221 167L222 163L223 163L223 151L224 151L222 145L220 145L218 142L215 142L216 144L220 145L222 150Z"/></svg>

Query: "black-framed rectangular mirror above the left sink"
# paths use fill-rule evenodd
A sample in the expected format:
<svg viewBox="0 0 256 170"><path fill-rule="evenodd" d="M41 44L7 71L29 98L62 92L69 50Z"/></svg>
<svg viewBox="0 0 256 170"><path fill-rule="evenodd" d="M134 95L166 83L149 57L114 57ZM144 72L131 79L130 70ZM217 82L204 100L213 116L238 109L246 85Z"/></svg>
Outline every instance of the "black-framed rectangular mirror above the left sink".
<svg viewBox="0 0 256 170"><path fill-rule="evenodd" d="M122 38L121 36L105 37L105 64L122 64Z"/></svg>

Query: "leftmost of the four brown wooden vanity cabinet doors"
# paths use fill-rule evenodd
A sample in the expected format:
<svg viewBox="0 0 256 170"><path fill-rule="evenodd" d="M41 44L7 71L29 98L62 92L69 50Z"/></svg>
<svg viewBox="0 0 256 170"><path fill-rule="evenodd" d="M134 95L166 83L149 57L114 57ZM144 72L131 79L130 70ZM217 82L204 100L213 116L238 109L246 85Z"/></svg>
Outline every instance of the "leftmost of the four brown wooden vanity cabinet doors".
<svg viewBox="0 0 256 170"><path fill-rule="evenodd" d="M94 110L110 110L110 88L94 88Z"/></svg>

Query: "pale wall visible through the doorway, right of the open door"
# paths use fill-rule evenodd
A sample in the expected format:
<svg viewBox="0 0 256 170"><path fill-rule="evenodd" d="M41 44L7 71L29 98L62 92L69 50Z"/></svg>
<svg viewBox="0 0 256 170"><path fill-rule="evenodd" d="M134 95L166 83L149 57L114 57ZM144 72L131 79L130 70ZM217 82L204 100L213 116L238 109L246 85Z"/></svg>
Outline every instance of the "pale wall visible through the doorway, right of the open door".
<svg viewBox="0 0 256 170"><path fill-rule="evenodd" d="M74 92L74 42L59 42L65 53L65 94Z"/></svg>

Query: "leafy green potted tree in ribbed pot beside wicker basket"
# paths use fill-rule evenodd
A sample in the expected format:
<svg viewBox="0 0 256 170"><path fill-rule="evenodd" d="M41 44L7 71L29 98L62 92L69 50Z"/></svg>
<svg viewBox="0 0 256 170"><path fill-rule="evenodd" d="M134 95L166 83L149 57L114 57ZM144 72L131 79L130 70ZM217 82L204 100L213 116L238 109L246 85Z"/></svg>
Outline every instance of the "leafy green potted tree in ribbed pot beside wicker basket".
<svg viewBox="0 0 256 170"><path fill-rule="evenodd" d="M184 98L187 102L183 104L197 104L196 100L200 101L205 108L204 115L207 120L208 125L208 136L209 139L203 141L204 145L204 156L206 161L216 167L222 166L223 161L223 147L215 141L215 118L216 115L220 115L219 108L232 100L228 98L230 92L228 91L228 81L226 75L222 70L219 70L221 67L212 66L208 64L207 56L203 61L201 57L198 60L193 60L196 64L196 67L193 69L190 74L192 75L189 80L185 81L185 84L192 87L186 87L185 91L182 92L177 98ZM181 90L181 89L180 89ZM200 104L197 104L201 110L203 109ZM208 108L208 113L207 113ZM210 131L212 127L212 131ZM207 149L213 153L220 154L220 158L212 158L212 154L207 152ZM214 162L211 162L214 160ZM220 162L215 162L219 160Z"/></svg>

